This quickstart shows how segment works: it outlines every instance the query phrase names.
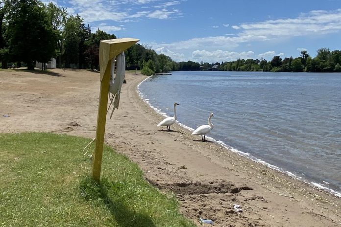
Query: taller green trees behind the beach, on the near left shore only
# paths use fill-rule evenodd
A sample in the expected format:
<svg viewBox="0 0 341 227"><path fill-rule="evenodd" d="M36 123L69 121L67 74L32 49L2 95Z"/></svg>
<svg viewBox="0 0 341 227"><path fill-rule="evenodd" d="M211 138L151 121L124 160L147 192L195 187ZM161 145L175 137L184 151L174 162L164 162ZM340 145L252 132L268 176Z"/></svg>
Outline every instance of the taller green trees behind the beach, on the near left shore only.
<svg viewBox="0 0 341 227"><path fill-rule="evenodd" d="M100 40L116 36L99 29L92 33L91 29L78 14L70 15L52 2L0 1L1 68L16 64L33 70L36 61L48 63L56 58L57 68L99 69ZM127 68L145 68L152 73L179 70L169 56L140 44L130 47L125 55Z"/></svg>

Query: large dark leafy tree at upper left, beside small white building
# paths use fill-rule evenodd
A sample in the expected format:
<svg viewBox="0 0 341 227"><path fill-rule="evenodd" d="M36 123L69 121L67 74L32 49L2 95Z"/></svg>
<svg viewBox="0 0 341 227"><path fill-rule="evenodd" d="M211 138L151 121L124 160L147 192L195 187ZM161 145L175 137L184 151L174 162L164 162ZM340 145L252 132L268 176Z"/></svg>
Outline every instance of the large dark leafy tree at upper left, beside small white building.
<svg viewBox="0 0 341 227"><path fill-rule="evenodd" d="M6 0L8 7L9 57L34 70L35 61L48 62L55 56L57 37L44 5L39 0Z"/></svg>

